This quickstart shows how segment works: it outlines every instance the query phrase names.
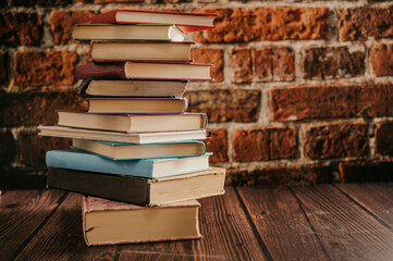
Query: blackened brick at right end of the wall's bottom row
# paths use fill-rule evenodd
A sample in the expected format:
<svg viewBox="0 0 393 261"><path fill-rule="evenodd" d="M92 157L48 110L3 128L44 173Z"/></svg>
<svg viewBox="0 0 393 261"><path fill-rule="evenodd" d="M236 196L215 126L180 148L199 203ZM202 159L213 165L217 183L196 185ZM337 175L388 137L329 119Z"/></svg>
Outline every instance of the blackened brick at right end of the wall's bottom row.
<svg viewBox="0 0 393 261"><path fill-rule="evenodd" d="M358 161L339 164L343 183L393 182L393 162Z"/></svg>

